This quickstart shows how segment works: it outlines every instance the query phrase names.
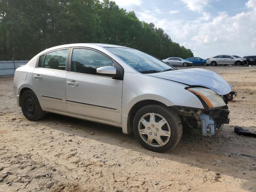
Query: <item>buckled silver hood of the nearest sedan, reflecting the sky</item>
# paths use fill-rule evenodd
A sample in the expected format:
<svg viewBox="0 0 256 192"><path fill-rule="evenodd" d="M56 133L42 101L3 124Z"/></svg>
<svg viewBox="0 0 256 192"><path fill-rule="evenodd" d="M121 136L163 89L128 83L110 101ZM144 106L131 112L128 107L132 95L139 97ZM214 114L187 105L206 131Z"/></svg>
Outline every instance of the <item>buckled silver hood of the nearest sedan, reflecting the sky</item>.
<svg viewBox="0 0 256 192"><path fill-rule="evenodd" d="M221 76L213 71L201 68L173 70L147 75L179 82L188 86L203 86L214 90L219 95L228 94L232 90L232 86Z"/></svg>

